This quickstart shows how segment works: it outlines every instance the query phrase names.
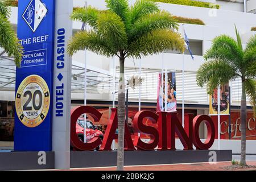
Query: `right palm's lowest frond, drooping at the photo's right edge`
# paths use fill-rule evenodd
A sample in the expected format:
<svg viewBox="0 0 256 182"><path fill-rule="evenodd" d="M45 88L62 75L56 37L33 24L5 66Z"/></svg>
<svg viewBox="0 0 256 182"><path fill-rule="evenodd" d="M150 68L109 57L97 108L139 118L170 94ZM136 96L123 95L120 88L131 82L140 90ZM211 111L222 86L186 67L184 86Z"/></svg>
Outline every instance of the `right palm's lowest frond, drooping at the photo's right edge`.
<svg viewBox="0 0 256 182"><path fill-rule="evenodd" d="M246 79L245 80L245 91L249 96L251 106L254 107L254 114L256 113L256 80Z"/></svg>

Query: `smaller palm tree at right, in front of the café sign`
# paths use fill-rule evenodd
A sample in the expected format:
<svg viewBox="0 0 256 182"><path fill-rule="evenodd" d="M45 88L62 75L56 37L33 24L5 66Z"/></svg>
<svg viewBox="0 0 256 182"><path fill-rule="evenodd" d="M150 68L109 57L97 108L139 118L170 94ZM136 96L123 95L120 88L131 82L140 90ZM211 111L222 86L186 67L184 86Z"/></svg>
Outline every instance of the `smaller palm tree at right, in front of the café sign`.
<svg viewBox="0 0 256 182"><path fill-rule="evenodd" d="M242 82L241 97L241 161L246 165L246 94L251 106L256 105L256 35L252 36L242 48L240 34L236 28L237 40L228 35L217 36L213 39L212 47L205 53L207 60L197 71L197 84L207 84L208 94L218 85L225 84L237 77ZM255 109L255 107L254 107ZM254 110L255 111L255 110Z"/></svg>

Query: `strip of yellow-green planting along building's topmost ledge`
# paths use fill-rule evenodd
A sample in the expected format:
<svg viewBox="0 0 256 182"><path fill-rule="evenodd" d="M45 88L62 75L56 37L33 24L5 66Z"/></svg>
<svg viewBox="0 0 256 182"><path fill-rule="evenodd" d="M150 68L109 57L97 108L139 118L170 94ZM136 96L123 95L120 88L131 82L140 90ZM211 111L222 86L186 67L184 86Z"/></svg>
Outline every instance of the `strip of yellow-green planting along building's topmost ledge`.
<svg viewBox="0 0 256 182"><path fill-rule="evenodd" d="M209 2L191 1L191 0L148 0L154 2L172 3L176 5L187 5L187 6L197 6L197 7L207 7L220 9L220 5L215 5Z"/></svg>

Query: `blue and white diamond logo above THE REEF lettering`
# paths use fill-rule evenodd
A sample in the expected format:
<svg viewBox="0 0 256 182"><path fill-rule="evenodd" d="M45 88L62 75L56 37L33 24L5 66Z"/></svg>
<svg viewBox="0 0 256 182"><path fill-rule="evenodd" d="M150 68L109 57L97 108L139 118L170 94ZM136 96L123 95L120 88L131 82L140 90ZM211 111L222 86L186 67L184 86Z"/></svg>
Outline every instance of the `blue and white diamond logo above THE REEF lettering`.
<svg viewBox="0 0 256 182"><path fill-rule="evenodd" d="M47 14L46 6L40 0L31 0L22 18L33 32L36 31L44 16Z"/></svg>

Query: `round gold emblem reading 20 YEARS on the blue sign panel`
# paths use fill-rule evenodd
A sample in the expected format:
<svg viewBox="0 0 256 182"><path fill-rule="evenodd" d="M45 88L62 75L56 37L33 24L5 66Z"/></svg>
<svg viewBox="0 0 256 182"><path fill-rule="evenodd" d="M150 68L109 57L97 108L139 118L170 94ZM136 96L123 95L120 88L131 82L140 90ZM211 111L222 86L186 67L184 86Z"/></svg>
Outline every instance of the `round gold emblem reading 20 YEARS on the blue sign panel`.
<svg viewBox="0 0 256 182"><path fill-rule="evenodd" d="M49 104L49 88L42 77L30 75L21 82L16 93L15 108L23 125L40 125L47 116Z"/></svg>

